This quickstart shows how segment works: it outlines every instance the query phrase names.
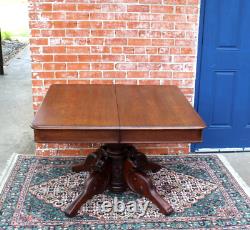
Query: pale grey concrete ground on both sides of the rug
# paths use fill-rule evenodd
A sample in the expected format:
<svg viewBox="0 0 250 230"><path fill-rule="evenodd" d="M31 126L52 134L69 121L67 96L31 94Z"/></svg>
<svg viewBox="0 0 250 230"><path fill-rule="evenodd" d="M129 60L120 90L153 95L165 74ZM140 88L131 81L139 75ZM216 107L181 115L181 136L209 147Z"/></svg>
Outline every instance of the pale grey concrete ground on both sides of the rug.
<svg viewBox="0 0 250 230"><path fill-rule="evenodd" d="M34 154L31 65L26 47L0 75L0 175L12 153ZM201 154L201 153L199 153ZM210 153L211 154L211 153ZM250 187L250 152L219 153Z"/></svg>

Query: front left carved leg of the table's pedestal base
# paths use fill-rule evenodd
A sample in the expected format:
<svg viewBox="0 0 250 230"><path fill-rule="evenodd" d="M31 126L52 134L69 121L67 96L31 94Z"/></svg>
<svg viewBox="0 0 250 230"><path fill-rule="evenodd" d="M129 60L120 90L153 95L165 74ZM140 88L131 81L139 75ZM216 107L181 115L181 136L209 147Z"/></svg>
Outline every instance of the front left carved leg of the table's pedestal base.
<svg viewBox="0 0 250 230"><path fill-rule="evenodd" d="M65 215L68 217L74 217L77 215L81 206L91 199L94 195L103 193L109 185L110 170L104 170L103 172L92 172L85 182L84 190L80 195L66 208Z"/></svg>

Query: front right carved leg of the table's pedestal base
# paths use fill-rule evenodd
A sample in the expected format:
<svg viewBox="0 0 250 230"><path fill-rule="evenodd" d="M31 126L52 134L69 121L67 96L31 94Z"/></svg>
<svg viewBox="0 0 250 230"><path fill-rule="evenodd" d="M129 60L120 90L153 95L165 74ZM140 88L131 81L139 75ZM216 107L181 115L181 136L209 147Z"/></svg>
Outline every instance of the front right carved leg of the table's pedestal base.
<svg viewBox="0 0 250 230"><path fill-rule="evenodd" d="M145 173L137 171L131 160L126 160L124 174L129 188L151 200L161 213L168 215L174 211L171 205L156 192L149 177Z"/></svg>

